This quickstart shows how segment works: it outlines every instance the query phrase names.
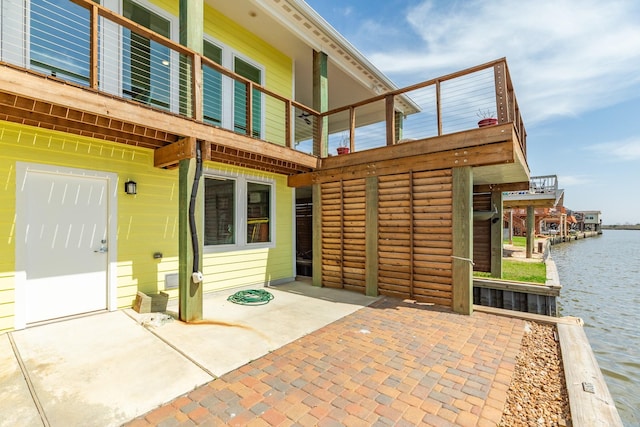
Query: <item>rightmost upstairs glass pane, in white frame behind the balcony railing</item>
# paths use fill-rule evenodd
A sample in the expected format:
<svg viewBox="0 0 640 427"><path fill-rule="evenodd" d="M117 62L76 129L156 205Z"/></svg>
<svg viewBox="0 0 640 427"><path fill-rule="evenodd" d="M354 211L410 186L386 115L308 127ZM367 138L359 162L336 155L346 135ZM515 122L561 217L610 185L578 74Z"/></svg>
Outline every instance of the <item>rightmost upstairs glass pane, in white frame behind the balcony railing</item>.
<svg viewBox="0 0 640 427"><path fill-rule="evenodd" d="M240 58L234 59L234 71L254 83L262 83L262 71L243 61ZM262 93L259 90L253 90L253 105L251 108L253 114L252 136L260 138L260 128L262 126ZM234 83L234 129L238 133L247 133L247 90L244 84Z"/></svg>

